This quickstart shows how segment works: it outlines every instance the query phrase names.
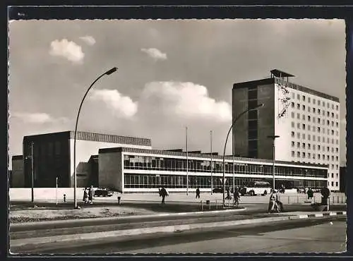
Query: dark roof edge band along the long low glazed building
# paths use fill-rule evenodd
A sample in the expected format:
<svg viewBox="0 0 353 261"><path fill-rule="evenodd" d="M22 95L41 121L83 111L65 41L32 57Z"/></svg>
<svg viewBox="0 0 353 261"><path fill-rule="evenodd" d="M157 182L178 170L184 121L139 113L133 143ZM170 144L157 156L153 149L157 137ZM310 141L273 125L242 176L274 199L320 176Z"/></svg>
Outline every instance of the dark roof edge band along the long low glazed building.
<svg viewBox="0 0 353 261"><path fill-rule="evenodd" d="M168 150L147 150L147 149L138 149L131 147L109 147L99 150L101 153L112 153L112 152L134 152L134 153L145 153L145 154L160 154L161 156L179 156L186 157L186 152L171 152ZM210 154L196 154L188 153L189 157L198 157L202 159L210 159ZM223 159L221 155L213 155L213 159ZM232 160L232 156L226 156L225 159ZM272 159L255 159L255 158L246 158L246 157L234 157L235 161L249 161L249 162L258 162L258 163L273 163ZM311 163L301 163L301 162L285 162L285 161L275 161L276 164L290 164L298 166L317 166L321 168L327 168L328 165L325 164L311 164Z"/></svg>

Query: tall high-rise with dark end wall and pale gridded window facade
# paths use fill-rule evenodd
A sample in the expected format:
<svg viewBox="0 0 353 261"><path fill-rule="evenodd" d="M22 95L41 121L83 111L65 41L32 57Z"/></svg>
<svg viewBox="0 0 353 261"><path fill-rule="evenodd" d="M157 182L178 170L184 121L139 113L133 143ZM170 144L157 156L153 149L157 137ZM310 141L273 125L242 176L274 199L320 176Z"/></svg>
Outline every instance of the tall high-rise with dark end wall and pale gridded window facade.
<svg viewBox="0 0 353 261"><path fill-rule="evenodd" d="M270 78L234 83L233 119L249 111L233 128L234 154L240 157L324 164L328 188L340 189L340 101L337 97L289 82L277 69Z"/></svg>

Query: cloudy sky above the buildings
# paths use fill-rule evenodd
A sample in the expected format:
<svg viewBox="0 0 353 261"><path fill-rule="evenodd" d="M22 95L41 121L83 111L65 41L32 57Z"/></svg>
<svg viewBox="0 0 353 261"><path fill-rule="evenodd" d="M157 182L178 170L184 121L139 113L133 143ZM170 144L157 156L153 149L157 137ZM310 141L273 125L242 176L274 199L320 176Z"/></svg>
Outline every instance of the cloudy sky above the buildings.
<svg viewBox="0 0 353 261"><path fill-rule="evenodd" d="M232 85L270 77L338 97L345 162L344 20L13 20L9 155L24 135L78 130L150 138L155 149L222 153ZM232 154L229 143L227 154Z"/></svg>

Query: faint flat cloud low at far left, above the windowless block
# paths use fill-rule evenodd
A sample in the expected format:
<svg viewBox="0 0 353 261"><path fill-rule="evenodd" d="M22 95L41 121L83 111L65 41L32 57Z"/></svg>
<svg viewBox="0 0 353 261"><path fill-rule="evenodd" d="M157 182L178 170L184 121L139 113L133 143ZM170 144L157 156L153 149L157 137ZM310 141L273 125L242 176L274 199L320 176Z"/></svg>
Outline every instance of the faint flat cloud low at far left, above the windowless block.
<svg viewBox="0 0 353 261"><path fill-rule="evenodd" d="M37 113L22 113L15 112L10 115L11 118L20 119L25 123L36 123L36 124L44 124L44 123L65 123L68 121L65 117L54 118L49 114L43 112Z"/></svg>

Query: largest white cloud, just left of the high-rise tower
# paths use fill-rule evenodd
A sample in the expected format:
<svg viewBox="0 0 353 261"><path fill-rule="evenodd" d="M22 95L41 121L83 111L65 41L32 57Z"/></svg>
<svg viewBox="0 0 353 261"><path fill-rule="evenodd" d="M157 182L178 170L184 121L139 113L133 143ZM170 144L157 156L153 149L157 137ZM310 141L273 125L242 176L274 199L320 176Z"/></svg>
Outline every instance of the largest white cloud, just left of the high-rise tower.
<svg viewBox="0 0 353 261"><path fill-rule="evenodd" d="M231 121L232 108L224 101L217 102L208 96L203 85L179 82L152 82L145 85L142 99L158 111L181 118Z"/></svg>

